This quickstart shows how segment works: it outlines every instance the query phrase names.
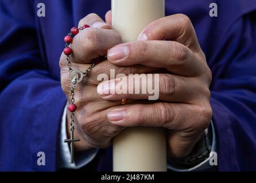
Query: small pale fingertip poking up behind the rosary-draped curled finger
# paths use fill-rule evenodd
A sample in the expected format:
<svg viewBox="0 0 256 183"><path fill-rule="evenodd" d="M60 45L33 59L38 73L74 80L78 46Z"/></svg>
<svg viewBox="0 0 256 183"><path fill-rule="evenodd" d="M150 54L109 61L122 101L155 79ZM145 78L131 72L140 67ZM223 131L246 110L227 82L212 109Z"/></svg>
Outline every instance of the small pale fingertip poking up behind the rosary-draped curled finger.
<svg viewBox="0 0 256 183"><path fill-rule="evenodd" d="M78 23L78 27L83 27L86 24L94 28L111 29L111 24L104 22L103 19L95 13L88 14L86 17L82 18Z"/></svg>

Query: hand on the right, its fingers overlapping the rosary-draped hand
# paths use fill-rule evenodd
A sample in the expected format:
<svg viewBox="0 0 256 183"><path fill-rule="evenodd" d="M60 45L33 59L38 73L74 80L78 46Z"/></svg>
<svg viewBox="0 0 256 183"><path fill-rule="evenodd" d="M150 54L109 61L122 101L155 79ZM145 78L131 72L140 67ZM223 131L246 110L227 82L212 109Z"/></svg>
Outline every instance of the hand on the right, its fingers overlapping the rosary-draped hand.
<svg viewBox="0 0 256 183"><path fill-rule="evenodd" d="M183 14L157 19L142 30L137 41L108 50L107 58L117 66L141 64L168 70L159 75L158 101L119 106L108 113L108 120L126 127L162 126L168 129L169 156L181 158L191 153L211 122L212 109L209 90L211 70L190 19ZM98 93L102 93L106 82L113 81L100 83ZM100 96L105 100L148 98L147 94Z"/></svg>

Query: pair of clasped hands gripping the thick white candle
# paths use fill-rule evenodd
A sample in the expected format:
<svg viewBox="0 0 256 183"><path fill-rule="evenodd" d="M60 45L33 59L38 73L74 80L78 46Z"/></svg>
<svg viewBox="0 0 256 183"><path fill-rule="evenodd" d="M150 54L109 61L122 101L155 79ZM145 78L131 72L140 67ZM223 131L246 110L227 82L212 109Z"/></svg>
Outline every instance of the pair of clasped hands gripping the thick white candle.
<svg viewBox="0 0 256 183"><path fill-rule="evenodd" d="M121 35L111 29L111 11L106 14L106 22L89 14L78 27L84 24L91 27L73 38L72 67L86 70L92 59L101 55L107 55L107 59L75 87L75 138L81 138L75 143L75 150L106 148L114 136L129 126L161 126L168 132L170 157L191 153L210 124L212 109L211 70L189 18L176 14L157 19L142 30L137 41L127 43L122 43ZM59 63L61 86L69 101L71 83L64 53ZM110 78L110 69L125 75L159 73L158 100L146 101L148 94L103 94L108 86L118 83L97 81L102 73ZM107 82L112 84L106 85ZM126 105L121 105L122 98L128 99ZM67 126L69 116L68 112Z"/></svg>

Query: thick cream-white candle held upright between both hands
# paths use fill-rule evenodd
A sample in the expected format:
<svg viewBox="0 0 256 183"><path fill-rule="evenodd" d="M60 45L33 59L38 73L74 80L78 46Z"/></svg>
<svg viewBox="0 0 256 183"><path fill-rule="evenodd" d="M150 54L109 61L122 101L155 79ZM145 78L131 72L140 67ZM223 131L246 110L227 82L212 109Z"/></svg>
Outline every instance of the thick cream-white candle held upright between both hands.
<svg viewBox="0 0 256 183"><path fill-rule="evenodd" d="M164 17L164 0L112 0L113 29L123 42L135 41L148 23ZM133 127L113 140L114 171L166 171L162 128Z"/></svg>

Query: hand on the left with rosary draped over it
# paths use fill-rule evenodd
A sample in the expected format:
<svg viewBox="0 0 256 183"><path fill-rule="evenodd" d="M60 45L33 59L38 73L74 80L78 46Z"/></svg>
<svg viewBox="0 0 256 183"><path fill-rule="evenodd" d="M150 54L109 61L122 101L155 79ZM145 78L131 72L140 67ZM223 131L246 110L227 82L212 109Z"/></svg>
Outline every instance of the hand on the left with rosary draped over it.
<svg viewBox="0 0 256 183"><path fill-rule="evenodd" d="M106 14L108 17L108 13ZM109 21L108 21L109 22ZM117 31L111 29L109 23L104 22L98 15L89 14L79 21L78 27L90 25L90 28L80 31L73 38L71 48L72 69L86 70L92 63L92 59L100 55L106 55L111 47L122 43L122 38ZM101 29L99 29L101 28ZM61 54L60 61L61 87L70 101L71 92L69 71L66 55ZM96 65L86 78L75 86L75 131L74 137L81 141L74 143L75 150L88 150L91 148L106 148L111 145L111 139L122 129L121 126L111 124L107 119L107 113L121 105L121 101L103 100L96 92L96 87L101 81L97 81L98 74L105 73L110 78L110 69L115 69L115 74L123 73L149 73L155 70L146 66L114 66L108 61ZM130 101L132 102L132 101ZM67 112L67 134L69 134L70 112Z"/></svg>

